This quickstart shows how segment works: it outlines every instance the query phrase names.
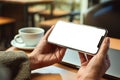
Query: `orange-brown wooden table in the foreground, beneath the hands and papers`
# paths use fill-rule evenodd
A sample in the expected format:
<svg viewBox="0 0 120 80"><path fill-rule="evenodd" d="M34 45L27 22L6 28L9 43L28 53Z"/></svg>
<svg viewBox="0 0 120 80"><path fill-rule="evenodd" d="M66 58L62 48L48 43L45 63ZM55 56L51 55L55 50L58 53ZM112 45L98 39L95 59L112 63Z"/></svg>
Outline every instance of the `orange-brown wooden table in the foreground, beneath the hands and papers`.
<svg viewBox="0 0 120 80"><path fill-rule="evenodd" d="M120 50L120 39L110 38L110 48ZM15 47L10 47L7 51L25 51ZM31 51L25 51L29 54ZM70 68L62 64L54 64L49 67L37 69L31 72L32 80L77 80L77 69ZM102 78L101 80L108 80Z"/></svg>

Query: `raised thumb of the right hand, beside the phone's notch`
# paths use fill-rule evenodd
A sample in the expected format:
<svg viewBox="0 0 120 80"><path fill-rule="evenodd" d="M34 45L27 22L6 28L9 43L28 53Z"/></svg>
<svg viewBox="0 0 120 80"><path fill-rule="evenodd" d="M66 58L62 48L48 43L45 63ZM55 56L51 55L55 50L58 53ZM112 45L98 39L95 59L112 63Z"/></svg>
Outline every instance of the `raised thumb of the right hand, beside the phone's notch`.
<svg viewBox="0 0 120 80"><path fill-rule="evenodd" d="M101 45L100 50L99 50L97 55L106 56L107 55L107 51L109 49L109 44L110 44L110 39L107 37L102 42L102 45Z"/></svg>

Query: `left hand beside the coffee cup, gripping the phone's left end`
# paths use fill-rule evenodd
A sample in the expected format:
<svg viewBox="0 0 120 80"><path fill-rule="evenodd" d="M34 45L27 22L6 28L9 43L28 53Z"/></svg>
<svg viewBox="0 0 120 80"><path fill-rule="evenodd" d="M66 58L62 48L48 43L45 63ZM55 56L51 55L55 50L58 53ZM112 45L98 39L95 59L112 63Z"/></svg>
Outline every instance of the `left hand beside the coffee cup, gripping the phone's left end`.
<svg viewBox="0 0 120 80"><path fill-rule="evenodd" d="M45 36L40 40L37 47L29 55L31 69L37 69L60 62L65 54L66 48L50 44L47 38L53 27L47 31Z"/></svg>

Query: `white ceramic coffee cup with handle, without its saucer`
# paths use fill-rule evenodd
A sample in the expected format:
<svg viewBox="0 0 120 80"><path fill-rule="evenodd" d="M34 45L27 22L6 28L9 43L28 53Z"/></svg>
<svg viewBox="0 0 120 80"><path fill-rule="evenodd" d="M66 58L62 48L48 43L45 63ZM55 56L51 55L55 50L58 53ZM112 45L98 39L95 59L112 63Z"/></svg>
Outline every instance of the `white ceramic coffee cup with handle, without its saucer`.
<svg viewBox="0 0 120 80"><path fill-rule="evenodd" d="M25 43L26 46L35 47L44 35L44 29L36 27L26 27L18 30L14 40L19 43Z"/></svg>

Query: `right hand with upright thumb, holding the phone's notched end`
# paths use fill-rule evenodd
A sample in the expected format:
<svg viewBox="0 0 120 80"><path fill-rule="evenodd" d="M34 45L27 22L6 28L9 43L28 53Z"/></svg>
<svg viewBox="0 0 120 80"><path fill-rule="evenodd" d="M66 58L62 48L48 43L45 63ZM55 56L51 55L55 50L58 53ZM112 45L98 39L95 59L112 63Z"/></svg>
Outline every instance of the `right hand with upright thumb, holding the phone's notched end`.
<svg viewBox="0 0 120 80"><path fill-rule="evenodd" d="M79 52L81 67L78 71L78 80L99 80L105 74L110 66L107 55L109 43L109 38L105 38L96 55L93 57L87 55L88 60L83 53Z"/></svg>

